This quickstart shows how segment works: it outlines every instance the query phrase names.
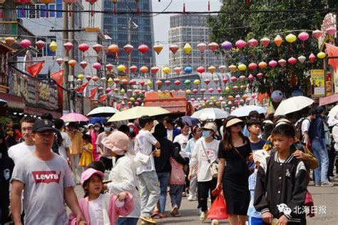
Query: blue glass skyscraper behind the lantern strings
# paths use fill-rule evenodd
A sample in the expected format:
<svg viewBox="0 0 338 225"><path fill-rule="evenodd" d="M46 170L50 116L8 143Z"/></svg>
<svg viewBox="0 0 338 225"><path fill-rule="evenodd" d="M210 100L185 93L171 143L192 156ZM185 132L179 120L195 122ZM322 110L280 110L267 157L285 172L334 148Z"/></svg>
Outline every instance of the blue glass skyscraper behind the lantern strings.
<svg viewBox="0 0 338 225"><path fill-rule="evenodd" d="M142 0L138 3L140 11L152 11L151 0ZM105 11L113 11L112 1L103 1ZM116 11L136 12L135 0L118 1ZM153 51L153 17L145 14L103 14L103 32L111 36L111 43L117 44L121 49L118 62L128 66L128 54L123 51L123 46L128 44L128 23L132 20L130 45L134 47L131 53L131 65L155 66L155 52ZM148 53L140 53L138 46L145 44L149 47ZM108 61L115 60L115 56L108 56Z"/></svg>

